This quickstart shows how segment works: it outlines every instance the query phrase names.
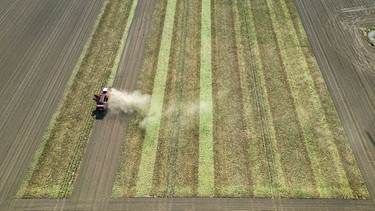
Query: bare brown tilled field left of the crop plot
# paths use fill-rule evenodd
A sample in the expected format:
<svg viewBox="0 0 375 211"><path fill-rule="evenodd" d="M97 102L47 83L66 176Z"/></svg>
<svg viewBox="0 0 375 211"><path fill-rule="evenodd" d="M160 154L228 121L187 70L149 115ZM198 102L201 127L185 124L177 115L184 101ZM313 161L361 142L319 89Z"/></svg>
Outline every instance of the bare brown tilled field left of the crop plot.
<svg viewBox="0 0 375 211"><path fill-rule="evenodd" d="M0 0L0 207L16 194L102 2Z"/></svg>

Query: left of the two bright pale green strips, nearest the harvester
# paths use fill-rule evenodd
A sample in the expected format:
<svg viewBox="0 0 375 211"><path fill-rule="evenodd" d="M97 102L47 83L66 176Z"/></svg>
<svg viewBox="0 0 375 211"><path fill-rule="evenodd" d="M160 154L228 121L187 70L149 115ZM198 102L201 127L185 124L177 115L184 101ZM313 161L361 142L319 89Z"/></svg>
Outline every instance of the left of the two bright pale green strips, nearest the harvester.
<svg viewBox="0 0 375 211"><path fill-rule="evenodd" d="M146 134L143 141L142 157L137 175L136 196L149 196L152 190L154 164L159 140L160 120L169 66L175 9L176 0L169 0L163 25L163 35L161 39L154 88L152 91Z"/></svg>

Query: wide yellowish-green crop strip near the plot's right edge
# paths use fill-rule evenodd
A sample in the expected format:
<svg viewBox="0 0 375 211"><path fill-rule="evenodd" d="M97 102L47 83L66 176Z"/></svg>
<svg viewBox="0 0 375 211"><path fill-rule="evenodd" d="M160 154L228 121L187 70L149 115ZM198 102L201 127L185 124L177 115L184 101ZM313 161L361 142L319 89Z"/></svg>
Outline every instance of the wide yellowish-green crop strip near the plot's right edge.
<svg viewBox="0 0 375 211"><path fill-rule="evenodd" d="M285 5L268 1L320 197L350 197L345 172Z"/></svg>

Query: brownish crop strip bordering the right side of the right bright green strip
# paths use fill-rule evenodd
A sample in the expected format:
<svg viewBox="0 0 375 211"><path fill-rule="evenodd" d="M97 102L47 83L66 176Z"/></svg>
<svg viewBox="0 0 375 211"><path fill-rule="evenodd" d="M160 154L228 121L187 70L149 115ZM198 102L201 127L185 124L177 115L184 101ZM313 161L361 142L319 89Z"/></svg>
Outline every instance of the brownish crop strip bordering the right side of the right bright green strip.
<svg viewBox="0 0 375 211"><path fill-rule="evenodd" d="M212 5L215 195L252 196L233 1Z"/></svg>

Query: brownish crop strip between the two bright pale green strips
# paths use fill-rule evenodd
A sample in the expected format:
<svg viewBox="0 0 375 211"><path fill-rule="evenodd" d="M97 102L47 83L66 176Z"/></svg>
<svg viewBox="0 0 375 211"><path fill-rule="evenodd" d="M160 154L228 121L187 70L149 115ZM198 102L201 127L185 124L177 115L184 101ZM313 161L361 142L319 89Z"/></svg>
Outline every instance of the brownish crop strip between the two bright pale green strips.
<svg viewBox="0 0 375 211"><path fill-rule="evenodd" d="M199 15L199 1L177 2L152 195L197 195Z"/></svg>

